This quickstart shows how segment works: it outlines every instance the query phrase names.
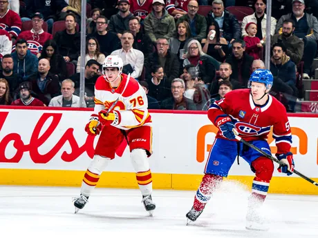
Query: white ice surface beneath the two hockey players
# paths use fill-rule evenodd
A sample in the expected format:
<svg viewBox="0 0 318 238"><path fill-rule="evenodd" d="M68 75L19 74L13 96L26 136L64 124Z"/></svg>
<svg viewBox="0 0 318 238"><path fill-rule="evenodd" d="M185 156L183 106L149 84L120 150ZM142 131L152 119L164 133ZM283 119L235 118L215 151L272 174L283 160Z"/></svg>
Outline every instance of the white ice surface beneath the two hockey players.
<svg viewBox="0 0 318 238"><path fill-rule="evenodd" d="M263 210L270 230L260 232L245 229L249 191L230 181L223 183L198 220L185 226L194 193L154 190L157 208L149 217L139 190L96 188L86 207L75 215L72 197L79 195L79 188L0 186L0 234L57 238L318 237L318 196L268 195Z"/></svg>

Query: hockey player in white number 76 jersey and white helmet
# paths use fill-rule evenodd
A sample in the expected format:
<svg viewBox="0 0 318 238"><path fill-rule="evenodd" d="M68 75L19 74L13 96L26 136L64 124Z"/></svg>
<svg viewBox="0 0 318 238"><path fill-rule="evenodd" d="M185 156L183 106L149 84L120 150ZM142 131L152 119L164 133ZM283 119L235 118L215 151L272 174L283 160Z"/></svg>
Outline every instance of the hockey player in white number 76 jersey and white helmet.
<svg viewBox="0 0 318 238"><path fill-rule="evenodd" d="M85 127L88 135L100 135L100 138L84 175L81 195L74 201L75 213L84 208L100 175L126 139L142 202L151 214L156 205L151 198L152 178L148 157L152 153L152 129L147 95L138 81L122 73L123 62L118 55L106 57L102 67L103 75L95 83L94 113Z"/></svg>

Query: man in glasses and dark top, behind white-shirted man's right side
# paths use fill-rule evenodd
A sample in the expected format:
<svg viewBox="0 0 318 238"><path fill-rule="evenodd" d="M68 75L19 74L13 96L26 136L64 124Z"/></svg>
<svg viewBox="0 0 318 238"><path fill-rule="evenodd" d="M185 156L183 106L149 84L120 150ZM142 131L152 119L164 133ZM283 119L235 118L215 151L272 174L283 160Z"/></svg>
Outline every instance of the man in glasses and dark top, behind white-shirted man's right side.
<svg viewBox="0 0 318 238"><path fill-rule="evenodd" d="M152 1L152 0L151 0ZM142 28L143 29L143 28ZM153 52L153 43L147 34L140 28L140 21L137 17L129 20L129 30L133 33L133 48L144 53L146 60L149 54Z"/></svg>

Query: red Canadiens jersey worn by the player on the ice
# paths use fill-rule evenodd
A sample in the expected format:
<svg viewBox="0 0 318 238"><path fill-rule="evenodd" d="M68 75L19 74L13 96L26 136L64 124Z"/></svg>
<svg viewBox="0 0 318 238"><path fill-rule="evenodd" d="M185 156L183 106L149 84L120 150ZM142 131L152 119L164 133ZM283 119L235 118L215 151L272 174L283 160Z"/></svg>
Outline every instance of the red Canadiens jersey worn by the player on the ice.
<svg viewBox="0 0 318 238"><path fill-rule="evenodd" d="M225 98L212 104L207 112L212 123L225 114L232 118L240 137L246 141L267 139L273 126L277 154L290 151L292 135L286 109L271 95L265 105L257 106L250 95L250 89L227 92ZM220 131L216 137L224 138Z"/></svg>

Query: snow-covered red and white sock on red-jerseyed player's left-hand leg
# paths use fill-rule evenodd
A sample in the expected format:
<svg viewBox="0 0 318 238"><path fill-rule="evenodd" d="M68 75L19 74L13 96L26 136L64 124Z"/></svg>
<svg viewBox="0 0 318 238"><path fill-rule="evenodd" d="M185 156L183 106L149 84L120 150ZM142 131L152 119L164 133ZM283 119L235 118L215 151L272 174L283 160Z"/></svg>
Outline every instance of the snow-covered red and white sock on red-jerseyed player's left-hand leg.
<svg viewBox="0 0 318 238"><path fill-rule="evenodd" d="M223 177L218 175L205 174L201 181L201 184L196 191L194 197L194 209L203 210L207 201L211 198L212 193L218 187L218 184L223 180Z"/></svg>

